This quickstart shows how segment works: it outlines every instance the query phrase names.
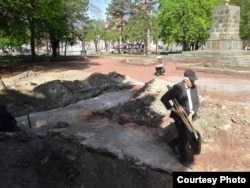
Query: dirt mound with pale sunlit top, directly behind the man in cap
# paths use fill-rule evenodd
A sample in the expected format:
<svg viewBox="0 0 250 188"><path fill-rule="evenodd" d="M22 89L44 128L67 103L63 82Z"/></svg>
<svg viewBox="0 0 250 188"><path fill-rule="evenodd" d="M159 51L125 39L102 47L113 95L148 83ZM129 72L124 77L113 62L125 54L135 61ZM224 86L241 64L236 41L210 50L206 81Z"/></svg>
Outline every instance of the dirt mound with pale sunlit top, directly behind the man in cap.
<svg viewBox="0 0 250 188"><path fill-rule="evenodd" d="M160 102L168 84L171 85L159 79L146 83L128 102L111 110L113 111L112 119L120 124L137 123L160 127L162 119L168 113Z"/></svg>

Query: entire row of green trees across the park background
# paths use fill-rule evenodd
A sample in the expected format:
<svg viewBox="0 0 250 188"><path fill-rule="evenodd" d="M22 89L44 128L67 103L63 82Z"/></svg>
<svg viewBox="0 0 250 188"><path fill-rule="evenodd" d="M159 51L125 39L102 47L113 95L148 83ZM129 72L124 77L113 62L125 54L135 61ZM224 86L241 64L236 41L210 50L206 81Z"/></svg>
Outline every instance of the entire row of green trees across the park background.
<svg viewBox="0 0 250 188"><path fill-rule="evenodd" d="M88 0L0 0L0 48L30 44L51 46L58 56L59 43L73 44L76 38L105 46L118 42L144 46L149 40L158 44L180 43L183 50L204 44L209 37L212 13L223 0L112 0L106 9L106 20L88 18ZM250 38L249 0L231 0L241 7L240 37ZM157 45L156 45L157 46ZM84 47L84 46L83 46ZM119 48L120 49L120 48Z"/></svg>

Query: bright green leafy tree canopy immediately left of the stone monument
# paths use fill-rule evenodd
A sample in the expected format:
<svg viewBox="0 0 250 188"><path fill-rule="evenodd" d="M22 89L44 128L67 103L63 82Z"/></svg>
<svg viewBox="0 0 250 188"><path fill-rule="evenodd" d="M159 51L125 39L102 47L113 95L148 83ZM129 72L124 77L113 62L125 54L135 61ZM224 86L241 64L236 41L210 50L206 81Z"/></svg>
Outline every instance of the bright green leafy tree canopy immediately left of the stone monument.
<svg viewBox="0 0 250 188"><path fill-rule="evenodd" d="M212 13L217 0L159 0L160 36L166 43L178 42L183 50L204 43L209 37Z"/></svg>

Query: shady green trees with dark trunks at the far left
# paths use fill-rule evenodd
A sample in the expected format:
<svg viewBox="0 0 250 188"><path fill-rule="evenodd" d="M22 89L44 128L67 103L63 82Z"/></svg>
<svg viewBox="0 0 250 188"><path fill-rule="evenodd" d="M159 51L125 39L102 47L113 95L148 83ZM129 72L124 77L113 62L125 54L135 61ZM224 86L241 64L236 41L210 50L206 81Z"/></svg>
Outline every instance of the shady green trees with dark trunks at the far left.
<svg viewBox="0 0 250 188"><path fill-rule="evenodd" d="M59 42L72 43L86 22L88 0L0 0L0 47L48 45L58 55Z"/></svg>

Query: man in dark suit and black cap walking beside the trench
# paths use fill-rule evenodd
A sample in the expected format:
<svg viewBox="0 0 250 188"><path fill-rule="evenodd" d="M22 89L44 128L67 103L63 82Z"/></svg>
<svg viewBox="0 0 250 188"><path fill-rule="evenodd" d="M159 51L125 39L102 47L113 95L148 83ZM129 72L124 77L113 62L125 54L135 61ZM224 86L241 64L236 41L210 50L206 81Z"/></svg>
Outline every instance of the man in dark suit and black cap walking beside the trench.
<svg viewBox="0 0 250 188"><path fill-rule="evenodd" d="M171 100L176 99L178 101L186 111L190 121L196 120L200 106L197 86L195 85L195 80L197 79L193 70L186 70L183 80L173 85L161 98L161 102L166 109L171 110L170 117L174 119L178 134L178 137L170 140L168 146L177 154L176 146L179 145L179 160L186 167L190 167L193 163L194 153L189 142L188 129L173 106L173 103L171 103Z"/></svg>

